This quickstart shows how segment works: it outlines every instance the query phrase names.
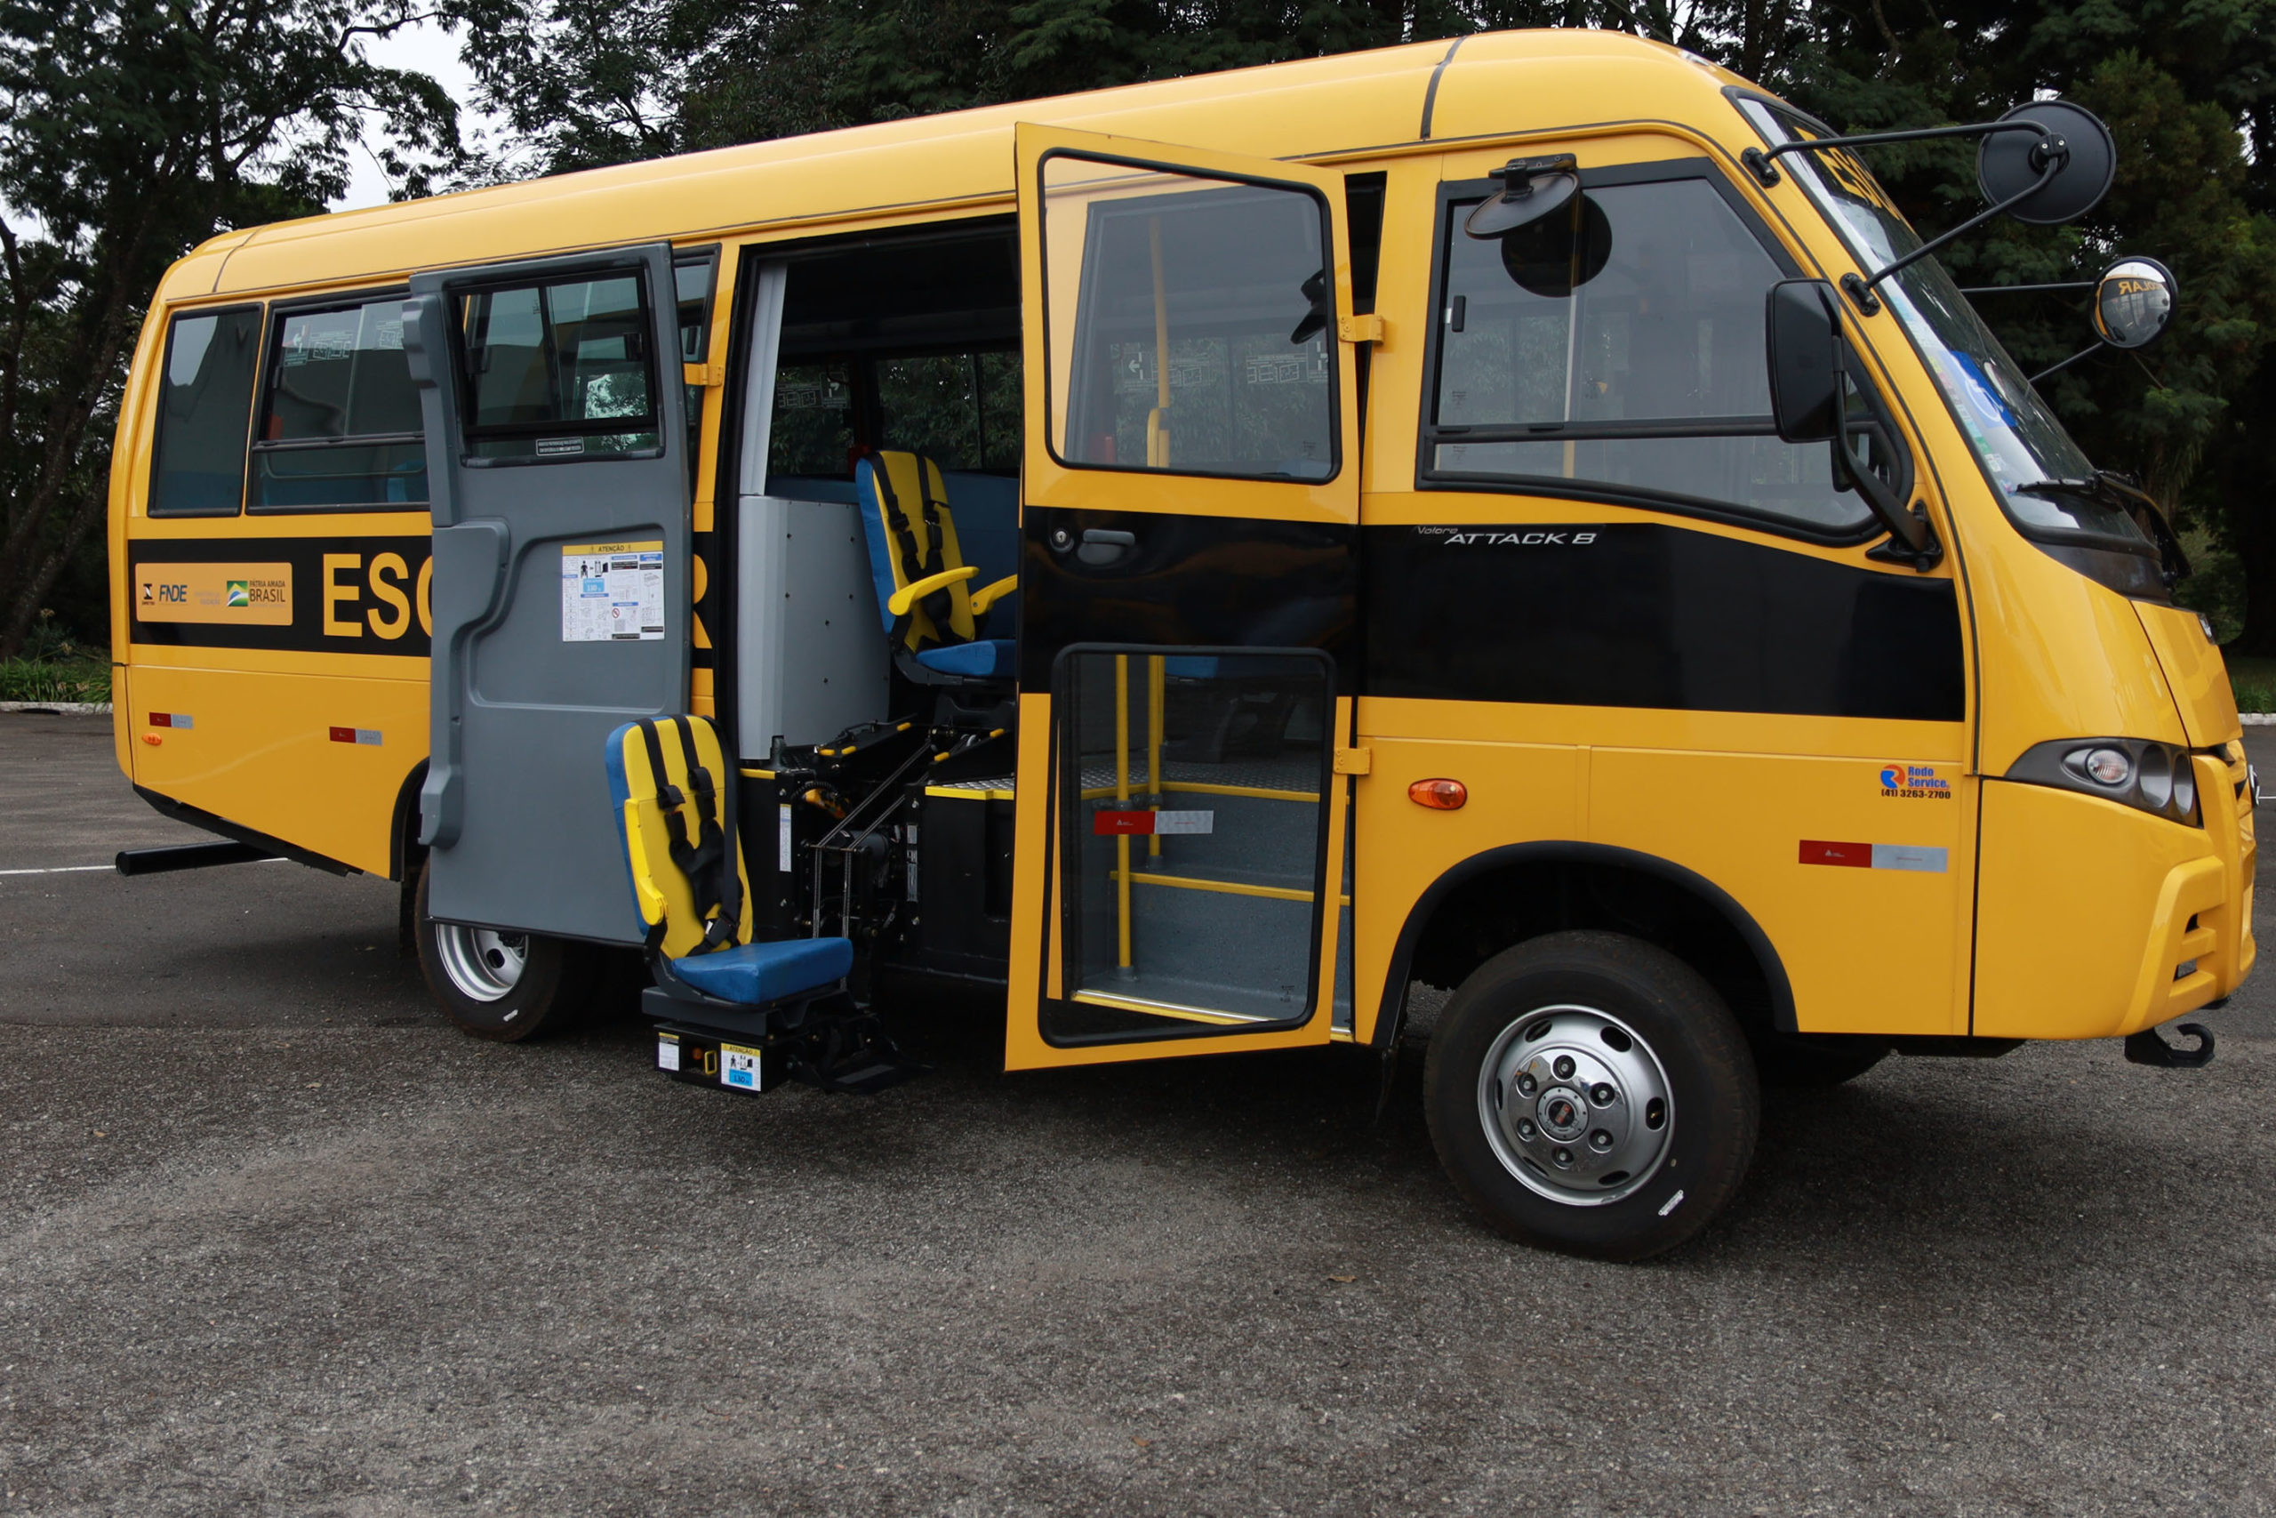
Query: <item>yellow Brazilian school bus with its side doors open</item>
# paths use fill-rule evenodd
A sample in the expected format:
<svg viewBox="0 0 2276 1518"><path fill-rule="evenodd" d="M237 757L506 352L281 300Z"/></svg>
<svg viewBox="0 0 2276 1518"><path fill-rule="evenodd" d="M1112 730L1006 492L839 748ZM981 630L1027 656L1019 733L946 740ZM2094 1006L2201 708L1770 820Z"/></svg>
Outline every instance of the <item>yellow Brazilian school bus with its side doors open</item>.
<svg viewBox="0 0 2276 1518"><path fill-rule="evenodd" d="M2039 221L2096 132L1946 130ZM747 933L851 1004L992 990L1036 1070L1388 1056L1448 988L1461 1193L1664 1249L1764 1081L2183 1065L2256 954L2178 546L1878 141L1509 32L216 237L121 410L118 762L403 881L521 1038L642 942L603 740L706 717ZM2133 346L2171 280L2112 273Z"/></svg>

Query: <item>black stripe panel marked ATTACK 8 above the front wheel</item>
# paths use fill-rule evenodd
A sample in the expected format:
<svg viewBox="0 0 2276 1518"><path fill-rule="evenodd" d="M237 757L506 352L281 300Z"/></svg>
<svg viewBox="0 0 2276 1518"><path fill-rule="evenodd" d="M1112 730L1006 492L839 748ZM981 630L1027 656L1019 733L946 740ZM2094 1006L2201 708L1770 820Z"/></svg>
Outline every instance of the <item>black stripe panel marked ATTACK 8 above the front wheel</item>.
<svg viewBox="0 0 2276 1518"><path fill-rule="evenodd" d="M1953 583L1655 523L1366 528L1366 694L1962 721Z"/></svg>

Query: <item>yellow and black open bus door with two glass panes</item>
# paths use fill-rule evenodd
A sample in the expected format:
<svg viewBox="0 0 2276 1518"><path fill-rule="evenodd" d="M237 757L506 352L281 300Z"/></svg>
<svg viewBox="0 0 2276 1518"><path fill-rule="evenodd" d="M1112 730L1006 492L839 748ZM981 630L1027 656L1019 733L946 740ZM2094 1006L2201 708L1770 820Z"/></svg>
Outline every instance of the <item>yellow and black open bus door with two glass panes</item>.
<svg viewBox="0 0 2276 1518"><path fill-rule="evenodd" d="M1343 175L1036 125L1015 152L1006 1065L1327 1042L1359 535Z"/></svg>

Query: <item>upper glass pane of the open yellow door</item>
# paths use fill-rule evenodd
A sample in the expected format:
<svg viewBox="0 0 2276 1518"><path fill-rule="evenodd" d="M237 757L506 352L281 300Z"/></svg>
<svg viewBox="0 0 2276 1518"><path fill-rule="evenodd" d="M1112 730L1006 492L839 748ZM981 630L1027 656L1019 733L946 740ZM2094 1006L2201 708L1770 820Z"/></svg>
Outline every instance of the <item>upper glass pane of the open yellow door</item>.
<svg viewBox="0 0 2276 1518"><path fill-rule="evenodd" d="M1325 216L1302 189L1042 162L1052 444L1070 464L1336 471Z"/></svg>

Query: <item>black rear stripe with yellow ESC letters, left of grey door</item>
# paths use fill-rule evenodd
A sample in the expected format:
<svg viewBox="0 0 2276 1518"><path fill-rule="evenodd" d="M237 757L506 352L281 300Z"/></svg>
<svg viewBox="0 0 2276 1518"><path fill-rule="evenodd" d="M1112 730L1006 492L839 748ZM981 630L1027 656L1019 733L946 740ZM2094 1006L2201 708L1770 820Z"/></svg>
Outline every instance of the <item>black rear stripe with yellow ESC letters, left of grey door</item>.
<svg viewBox="0 0 2276 1518"><path fill-rule="evenodd" d="M419 576L430 537L143 537L127 544L127 628L137 644L428 655ZM385 555L394 555L387 560ZM385 562L382 562L385 560ZM401 574L396 571L401 560ZM166 564L289 564L291 621L175 621ZM146 574L148 571L148 574ZM146 580L155 594L143 603ZM250 608L248 608L250 612ZM394 633L389 637L389 633Z"/></svg>

